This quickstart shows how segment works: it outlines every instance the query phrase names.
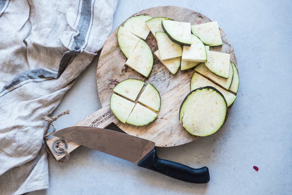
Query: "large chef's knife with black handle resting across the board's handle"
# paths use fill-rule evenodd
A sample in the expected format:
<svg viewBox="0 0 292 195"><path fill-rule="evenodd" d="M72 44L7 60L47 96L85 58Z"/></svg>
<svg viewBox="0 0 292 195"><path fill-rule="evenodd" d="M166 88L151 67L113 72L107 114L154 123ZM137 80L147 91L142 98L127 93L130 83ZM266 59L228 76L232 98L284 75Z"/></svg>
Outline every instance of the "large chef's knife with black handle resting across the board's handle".
<svg viewBox="0 0 292 195"><path fill-rule="evenodd" d="M177 180L190 183L208 183L210 181L207 167L195 169L180 163L160 159L154 148L155 143L140 137L108 129L84 126L64 128L53 135L136 163L140 167Z"/></svg>

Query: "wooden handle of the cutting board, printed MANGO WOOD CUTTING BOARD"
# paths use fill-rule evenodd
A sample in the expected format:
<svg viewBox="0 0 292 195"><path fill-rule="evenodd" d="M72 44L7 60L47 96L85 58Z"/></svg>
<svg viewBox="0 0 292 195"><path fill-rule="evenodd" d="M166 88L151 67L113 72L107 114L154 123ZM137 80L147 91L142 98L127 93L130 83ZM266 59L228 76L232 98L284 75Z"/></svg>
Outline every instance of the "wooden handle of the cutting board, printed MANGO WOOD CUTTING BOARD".
<svg viewBox="0 0 292 195"><path fill-rule="evenodd" d="M111 123L114 123L114 122L116 123L116 121L117 121L117 118L112 113L109 107L109 101L107 101L105 102L104 106L101 109L87 116L86 118L82 119L78 123L75 123L72 126L88 126L88 127L106 128ZM47 145L50 148L55 159L57 160L60 160L65 156L65 154L55 149L55 145L58 142L63 142L68 153L72 152L74 149L79 147L78 144L75 144L73 142L62 140L59 137L55 137L55 136L51 137L50 139L47 140Z"/></svg>

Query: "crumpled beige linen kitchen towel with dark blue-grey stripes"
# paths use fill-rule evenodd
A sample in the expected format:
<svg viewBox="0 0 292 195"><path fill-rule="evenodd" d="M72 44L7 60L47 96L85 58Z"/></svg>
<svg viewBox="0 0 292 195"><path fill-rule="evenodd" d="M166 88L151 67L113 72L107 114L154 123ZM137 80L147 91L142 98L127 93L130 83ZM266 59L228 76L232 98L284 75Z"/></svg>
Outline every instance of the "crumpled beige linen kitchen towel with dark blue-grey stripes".
<svg viewBox="0 0 292 195"><path fill-rule="evenodd" d="M112 30L117 0L0 0L0 194L48 188L49 115Z"/></svg>

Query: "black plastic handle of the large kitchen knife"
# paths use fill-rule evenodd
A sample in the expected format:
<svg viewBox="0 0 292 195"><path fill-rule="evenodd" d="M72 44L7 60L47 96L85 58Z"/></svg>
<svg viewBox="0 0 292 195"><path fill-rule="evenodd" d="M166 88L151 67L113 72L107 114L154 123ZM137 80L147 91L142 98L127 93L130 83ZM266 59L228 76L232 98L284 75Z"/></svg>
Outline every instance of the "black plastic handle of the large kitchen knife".
<svg viewBox="0 0 292 195"><path fill-rule="evenodd" d="M203 184L210 181L208 167L194 169L180 163L159 159L156 149L153 149L141 161L139 161L138 166L184 182Z"/></svg>

